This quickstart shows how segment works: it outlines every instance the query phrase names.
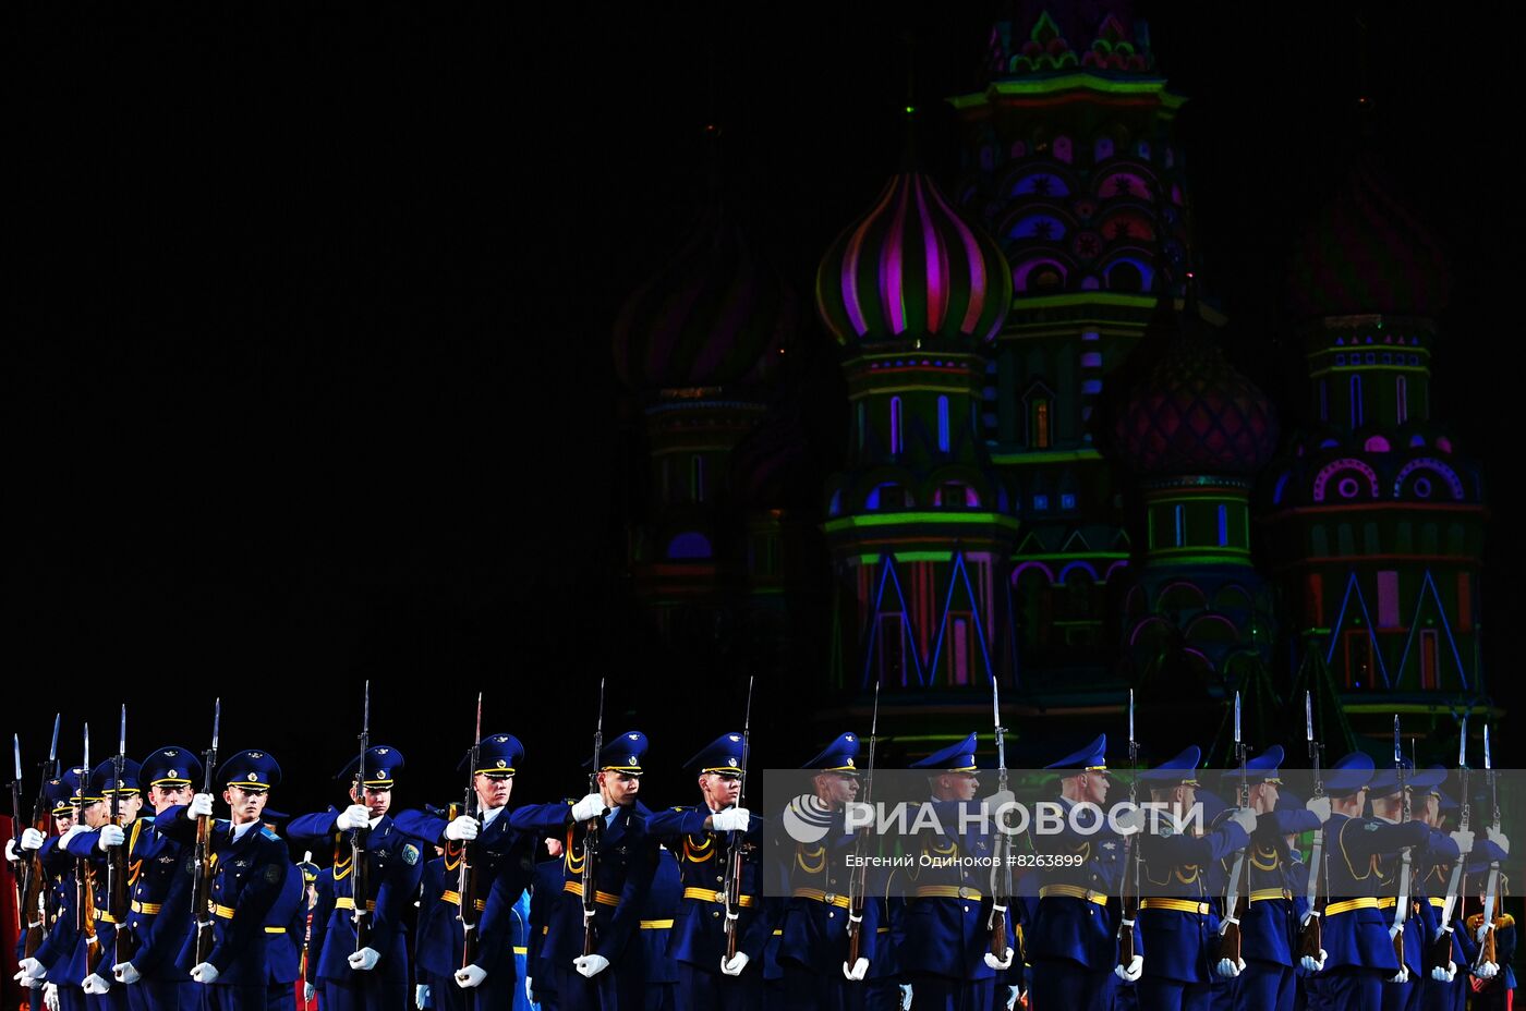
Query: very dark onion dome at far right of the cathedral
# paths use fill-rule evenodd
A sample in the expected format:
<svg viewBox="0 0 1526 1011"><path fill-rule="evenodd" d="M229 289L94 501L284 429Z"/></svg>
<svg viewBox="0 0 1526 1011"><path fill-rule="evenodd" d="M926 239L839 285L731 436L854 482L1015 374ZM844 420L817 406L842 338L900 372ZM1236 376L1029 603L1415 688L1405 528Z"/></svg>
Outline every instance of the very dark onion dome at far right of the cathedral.
<svg viewBox="0 0 1526 1011"><path fill-rule="evenodd" d="M1441 244L1398 200L1376 159L1358 159L1294 249L1291 294L1300 316L1392 314L1434 319L1451 276Z"/></svg>

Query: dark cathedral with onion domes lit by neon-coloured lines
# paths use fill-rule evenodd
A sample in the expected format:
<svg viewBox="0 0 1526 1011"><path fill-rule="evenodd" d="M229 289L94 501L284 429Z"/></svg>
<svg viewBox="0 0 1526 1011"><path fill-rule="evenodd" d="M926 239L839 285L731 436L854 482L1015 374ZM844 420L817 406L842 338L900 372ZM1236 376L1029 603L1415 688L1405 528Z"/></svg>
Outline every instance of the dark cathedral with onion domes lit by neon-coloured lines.
<svg viewBox="0 0 1526 1011"><path fill-rule="evenodd" d="M627 605L670 656L766 657L855 712L877 685L926 738L989 714L995 680L1006 721L1042 727L1019 753L1122 729L1131 688L1177 726L1224 726L1241 691L1276 740L1309 691L1326 740L1399 711L1456 741L1491 704L1485 500L1431 415L1434 241L1352 160L1289 264L1308 401L1273 404L1199 299L1184 99L1146 26L1019 6L984 88L949 99L961 174L908 156L812 297L716 192L632 294ZM809 340L835 348L847 432L801 424L783 366ZM824 438L836 464L803 486Z"/></svg>

